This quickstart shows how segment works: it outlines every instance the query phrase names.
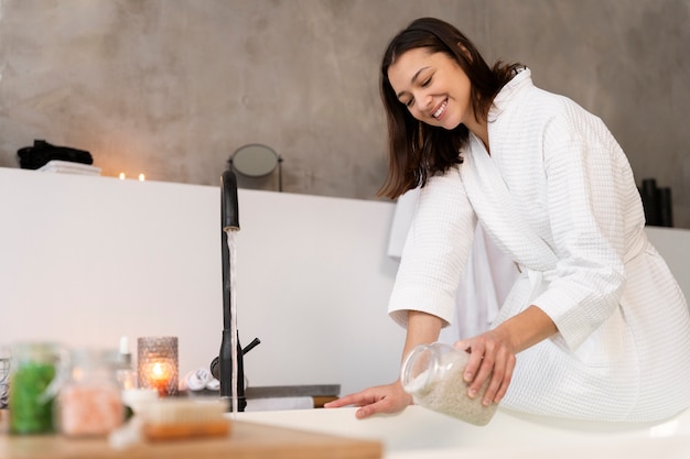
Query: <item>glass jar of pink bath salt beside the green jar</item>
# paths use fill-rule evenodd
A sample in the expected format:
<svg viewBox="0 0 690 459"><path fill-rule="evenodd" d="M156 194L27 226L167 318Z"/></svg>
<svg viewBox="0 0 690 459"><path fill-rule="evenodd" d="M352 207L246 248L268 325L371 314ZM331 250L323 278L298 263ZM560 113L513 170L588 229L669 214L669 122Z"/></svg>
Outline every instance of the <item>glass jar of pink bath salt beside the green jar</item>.
<svg viewBox="0 0 690 459"><path fill-rule="evenodd" d="M71 379L57 395L56 424L62 434L103 436L122 425L125 407L116 370L114 353L89 349L72 352Z"/></svg>

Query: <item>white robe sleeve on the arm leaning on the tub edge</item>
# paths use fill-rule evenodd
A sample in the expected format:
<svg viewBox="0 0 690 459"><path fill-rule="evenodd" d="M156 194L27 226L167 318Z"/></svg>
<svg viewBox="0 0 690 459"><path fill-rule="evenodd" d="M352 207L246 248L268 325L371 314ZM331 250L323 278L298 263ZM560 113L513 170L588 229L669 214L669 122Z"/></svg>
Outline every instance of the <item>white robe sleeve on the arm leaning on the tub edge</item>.
<svg viewBox="0 0 690 459"><path fill-rule="evenodd" d="M396 323L407 327L410 309L451 323L475 225L457 167L431 177L421 190L388 305Z"/></svg>

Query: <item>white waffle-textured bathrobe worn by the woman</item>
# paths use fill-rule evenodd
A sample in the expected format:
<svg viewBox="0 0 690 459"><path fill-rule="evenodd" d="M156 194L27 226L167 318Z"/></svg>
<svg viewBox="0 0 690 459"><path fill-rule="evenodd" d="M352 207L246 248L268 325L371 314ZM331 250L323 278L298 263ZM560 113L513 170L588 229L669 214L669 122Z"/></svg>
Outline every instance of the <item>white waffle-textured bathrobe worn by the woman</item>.
<svg viewBox="0 0 690 459"><path fill-rule="evenodd" d="M520 352L503 406L604 420L656 420L690 405L690 315L644 232L625 154L603 122L536 88L528 69L488 114L490 156L422 189L389 304L450 323L475 225L521 271L493 326L537 305L559 332Z"/></svg>

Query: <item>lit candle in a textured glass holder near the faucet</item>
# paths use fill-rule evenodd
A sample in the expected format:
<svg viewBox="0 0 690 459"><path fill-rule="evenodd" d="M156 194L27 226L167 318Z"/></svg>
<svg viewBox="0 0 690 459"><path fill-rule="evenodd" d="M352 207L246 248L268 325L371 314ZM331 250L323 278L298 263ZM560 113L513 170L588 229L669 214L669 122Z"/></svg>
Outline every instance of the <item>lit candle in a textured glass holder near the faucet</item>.
<svg viewBox="0 0 690 459"><path fill-rule="evenodd" d="M160 396L177 394L177 338L137 339L139 389L155 389Z"/></svg>

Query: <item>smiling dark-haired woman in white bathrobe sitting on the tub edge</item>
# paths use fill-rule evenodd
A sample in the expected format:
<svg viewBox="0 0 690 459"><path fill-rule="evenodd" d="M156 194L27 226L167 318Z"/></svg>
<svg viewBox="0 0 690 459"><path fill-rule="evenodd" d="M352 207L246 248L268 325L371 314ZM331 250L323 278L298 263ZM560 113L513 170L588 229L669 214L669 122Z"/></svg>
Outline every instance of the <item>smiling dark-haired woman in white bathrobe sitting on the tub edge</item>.
<svg viewBox="0 0 690 459"><path fill-rule="evenodd" d="M389 304L406 356L438 339L481 225L520 275L467 350L470 396L581 419L656 420L690 405L690 317L645 236L625 154L603 122L489 67L455 28L420 19L381 65L390 168L381 195L422 194ZM460 153L460 154L459 154ZM460 382L459 382L460 383ZM357 417L411 403L399 381L346 395Z"/></svg>

